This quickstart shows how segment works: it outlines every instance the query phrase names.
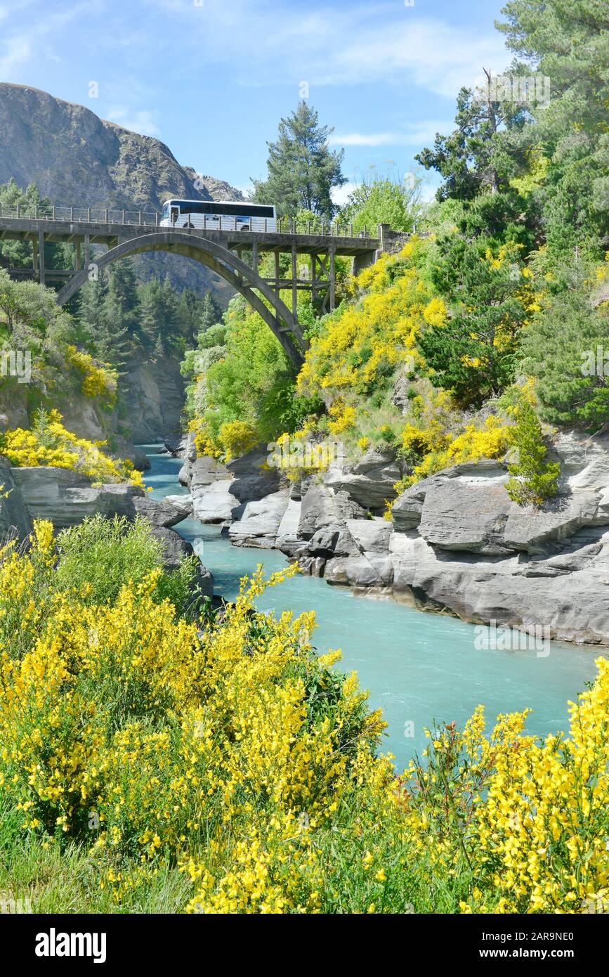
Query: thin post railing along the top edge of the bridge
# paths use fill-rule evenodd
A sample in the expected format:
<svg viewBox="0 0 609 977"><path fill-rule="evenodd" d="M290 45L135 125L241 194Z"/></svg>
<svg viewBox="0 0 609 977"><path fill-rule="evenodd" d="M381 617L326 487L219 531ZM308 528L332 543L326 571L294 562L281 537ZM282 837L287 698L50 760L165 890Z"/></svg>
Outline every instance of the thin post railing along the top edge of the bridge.
<svg viewBox="0 0 609 977"><path fill-rule="evenodd" d="M129 226L159 227L161 214L154 210L119 210L110 207L63 207L48 206L46 204L0 204L0 220L36 220L36 221L66 221L70 224L124 224ZM290 217L277 218L278 234L315 234L332 237L376 237L377 228L367 228L354 231L352 224L344 221L324 222L297 221ZM165 231L183 231L177 227L164 228ZM214 228L206 230L233 231L237 230L236 218L221 217L220 223Z"/></svg>

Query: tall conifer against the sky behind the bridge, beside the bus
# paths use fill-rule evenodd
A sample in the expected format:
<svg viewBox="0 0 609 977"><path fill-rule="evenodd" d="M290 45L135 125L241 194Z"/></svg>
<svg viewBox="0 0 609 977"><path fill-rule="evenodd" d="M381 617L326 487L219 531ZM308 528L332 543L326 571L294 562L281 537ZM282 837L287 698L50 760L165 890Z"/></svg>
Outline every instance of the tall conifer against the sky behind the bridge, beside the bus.
<svg viewBox="0 0 609 977"><path fill-rule="evenodd" d="M254 181L255 199L274 203L282 215L311 210L331 220L337 207L332 191L346 183L342 165L345 150L332 151L328 139L334 130L319 124L317 111L306 102L279 123L275 143L268 143L266 180Z"/></svg>

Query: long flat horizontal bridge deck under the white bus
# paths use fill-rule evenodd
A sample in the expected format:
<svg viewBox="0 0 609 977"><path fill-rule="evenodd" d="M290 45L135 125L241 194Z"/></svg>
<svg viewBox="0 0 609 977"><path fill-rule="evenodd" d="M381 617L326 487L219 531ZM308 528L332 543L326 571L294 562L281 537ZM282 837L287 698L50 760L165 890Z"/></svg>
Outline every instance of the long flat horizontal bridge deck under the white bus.
<svg viewBox="0 0 609 977"><path fill-rule="evenodd" d="M297 254L325 254L332 250L337 255L357 257L375 252L381 247L378 237L345 236L343 234L271 234L252 231L202 231L198 228L161 228L154 224L100 224L86 221L53 221L44 218L0 217L0 239L38 241L44 234L45 241L84 244L106 244L115 247L120 241L159 232L192 237L205 237L227 250L250 250L256 245L259 252L277 251Z"/></svg>

